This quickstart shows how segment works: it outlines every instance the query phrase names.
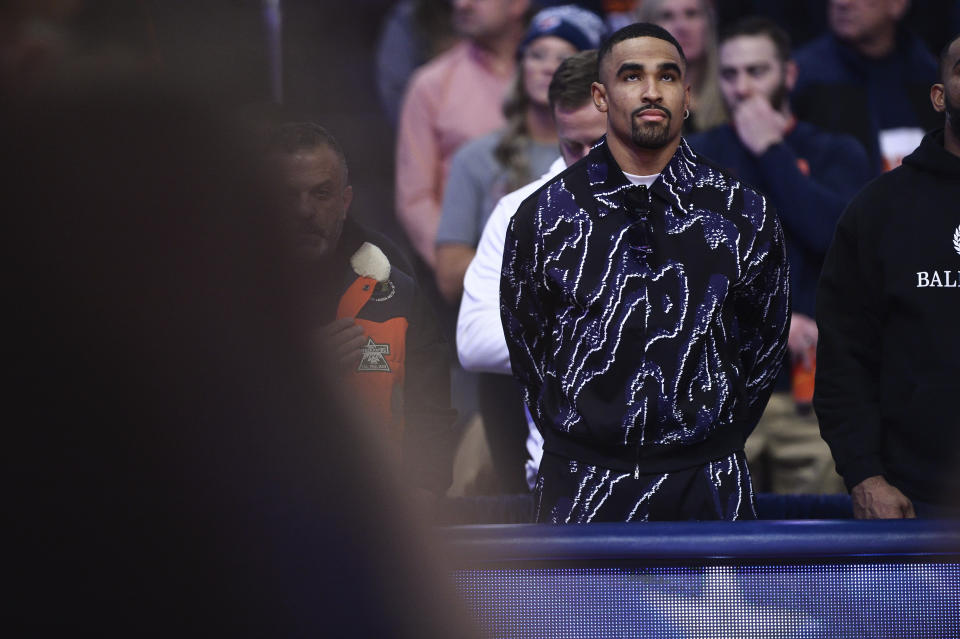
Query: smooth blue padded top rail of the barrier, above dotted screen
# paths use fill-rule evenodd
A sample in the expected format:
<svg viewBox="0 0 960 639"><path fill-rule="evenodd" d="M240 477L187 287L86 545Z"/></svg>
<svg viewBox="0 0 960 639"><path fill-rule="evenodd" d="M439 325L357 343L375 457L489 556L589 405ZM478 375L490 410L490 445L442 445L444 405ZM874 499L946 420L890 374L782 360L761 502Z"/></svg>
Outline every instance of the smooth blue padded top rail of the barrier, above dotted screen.
<svg viewBox="0 0 960 639"><path fill-rule="evenodd" d="M454 554L469 561L960 558L960 524L948 520L525 524L458 526L444 534Z"/></svg>

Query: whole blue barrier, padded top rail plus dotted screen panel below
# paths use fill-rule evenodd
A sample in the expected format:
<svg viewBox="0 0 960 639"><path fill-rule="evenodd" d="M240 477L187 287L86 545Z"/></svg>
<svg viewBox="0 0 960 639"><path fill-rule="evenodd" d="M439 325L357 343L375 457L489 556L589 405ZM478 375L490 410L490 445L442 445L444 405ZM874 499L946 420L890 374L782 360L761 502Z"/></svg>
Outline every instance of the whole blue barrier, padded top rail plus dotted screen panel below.
<svg viewBox="0 0 960 639"><path fill-rule="evenodd" d="M960 522L443 529L484 638L960 637Z"/></svg>

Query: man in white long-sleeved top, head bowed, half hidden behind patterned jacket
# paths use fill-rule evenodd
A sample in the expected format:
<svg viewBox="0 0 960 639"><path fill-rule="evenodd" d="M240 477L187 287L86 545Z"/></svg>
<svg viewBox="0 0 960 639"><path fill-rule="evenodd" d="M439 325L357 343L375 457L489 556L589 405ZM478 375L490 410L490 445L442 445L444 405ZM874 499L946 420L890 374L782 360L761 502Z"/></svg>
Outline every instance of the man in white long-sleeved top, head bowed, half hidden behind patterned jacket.
<svg viewBox="0 0 960 639"><path fill-rule="evenodd" d="M457 353L467 370L496 373L515 386L500 321L503 240L510 218L520 203L564 168L586 156L593 144L606 133L606 115L597 110L591 96L591 87L597 77L597 52L594 50L582 51L560 65L550 81L549 99L556 119L562 159L555 161L540 179L502 197L483 229L477 255L464 279L457 321ZM517 415L520 410L518 405ZM532 488L543 455L543 437L529 416L527 424L526 482Z"/></svg>

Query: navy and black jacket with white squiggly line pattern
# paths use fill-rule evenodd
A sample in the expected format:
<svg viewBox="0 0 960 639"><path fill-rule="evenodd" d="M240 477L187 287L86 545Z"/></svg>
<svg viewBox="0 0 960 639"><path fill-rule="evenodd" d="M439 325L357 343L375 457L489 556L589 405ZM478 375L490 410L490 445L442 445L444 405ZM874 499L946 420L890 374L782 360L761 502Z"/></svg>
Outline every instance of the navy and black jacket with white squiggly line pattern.
<svg viewBox="0 0 960 639"><path fill-rule="evenodd" d="M681 141L645 239L606 140L521 204L504 246L510 359L545 449L661 472L743 447L783 363L789 273L763 195Z"/></svg>

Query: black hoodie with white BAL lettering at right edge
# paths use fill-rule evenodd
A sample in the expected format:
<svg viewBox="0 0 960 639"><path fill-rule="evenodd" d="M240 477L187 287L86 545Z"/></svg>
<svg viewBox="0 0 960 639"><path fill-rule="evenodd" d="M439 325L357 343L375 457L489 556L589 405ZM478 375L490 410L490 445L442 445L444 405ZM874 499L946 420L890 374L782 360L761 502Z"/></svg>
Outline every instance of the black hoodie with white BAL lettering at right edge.
<svg viewBox="0 0 960 639"><path fill-rule="evenodd" d="M960 157L927 134L851 201L817 291L814 406L847 487L960 504Z"/></svg>

